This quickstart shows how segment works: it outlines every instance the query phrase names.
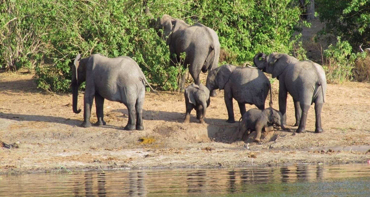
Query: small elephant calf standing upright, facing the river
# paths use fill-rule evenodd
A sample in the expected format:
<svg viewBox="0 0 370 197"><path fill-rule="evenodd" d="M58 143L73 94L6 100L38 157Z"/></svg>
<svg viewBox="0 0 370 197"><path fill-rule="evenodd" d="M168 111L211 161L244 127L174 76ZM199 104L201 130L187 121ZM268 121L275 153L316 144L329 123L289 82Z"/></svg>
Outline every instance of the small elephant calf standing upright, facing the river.
<svg viewBox="0 0 370 197"><path fill-rule="evenodd" d="M209 106L209 89L206 88L203 84L196 85L191 84L185 88L185 123L190 122L190 112L196 110L196 119L199 120L199 123L205 123L204 118L206 116L206 109Z"/></svg>

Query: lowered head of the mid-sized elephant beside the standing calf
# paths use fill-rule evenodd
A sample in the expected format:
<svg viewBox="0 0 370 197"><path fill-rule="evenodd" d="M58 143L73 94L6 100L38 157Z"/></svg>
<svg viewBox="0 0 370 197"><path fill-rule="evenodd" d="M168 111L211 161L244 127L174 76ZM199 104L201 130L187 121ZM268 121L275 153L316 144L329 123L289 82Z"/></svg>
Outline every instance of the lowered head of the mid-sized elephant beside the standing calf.
<svg viewBox="0 0 370 197"><path fill-rule="evenodd" d="M234 65L225 64L221 67L213 69L212 71L209 71L206 81L206 87L209 89L209 91L217 88L222 90L226 82L229 81L231 73L235 68L236 67Z"/></svg>

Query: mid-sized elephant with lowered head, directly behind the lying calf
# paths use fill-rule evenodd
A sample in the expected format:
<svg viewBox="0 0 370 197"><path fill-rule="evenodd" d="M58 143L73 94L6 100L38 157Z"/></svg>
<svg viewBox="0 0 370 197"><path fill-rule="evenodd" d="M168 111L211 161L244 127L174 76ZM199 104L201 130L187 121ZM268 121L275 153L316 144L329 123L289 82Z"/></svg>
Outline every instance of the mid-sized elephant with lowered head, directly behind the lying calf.
<svg viewBox="0 0 370 197"><path fill-rule="evenodd" d="M206 87L210 91L217 88L224 90L225 105L229 115L226 122L234 123L232 99L238 101L241 115L246 112L245 103L256 105L258 109L265 109L271 84L259 69L226 64L209 72Z"/></svg>

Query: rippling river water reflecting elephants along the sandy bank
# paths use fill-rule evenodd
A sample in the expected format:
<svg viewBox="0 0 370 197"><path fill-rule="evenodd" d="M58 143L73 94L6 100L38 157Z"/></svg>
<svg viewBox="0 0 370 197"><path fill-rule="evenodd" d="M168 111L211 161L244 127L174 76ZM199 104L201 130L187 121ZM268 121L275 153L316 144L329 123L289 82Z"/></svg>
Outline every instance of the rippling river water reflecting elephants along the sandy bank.
<svg viewBox="0 0 370 197"><path fill-rule="evenodd" d="M370 165L0 174L0 196L370 196Z"/></svg>

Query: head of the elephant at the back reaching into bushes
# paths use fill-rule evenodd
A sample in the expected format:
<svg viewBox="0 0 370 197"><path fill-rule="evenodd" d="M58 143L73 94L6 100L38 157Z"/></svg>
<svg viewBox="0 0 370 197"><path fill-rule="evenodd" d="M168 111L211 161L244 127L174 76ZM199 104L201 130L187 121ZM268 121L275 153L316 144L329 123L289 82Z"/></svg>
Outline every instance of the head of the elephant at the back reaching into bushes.
<svg viewBox="0 0 370 197"><path fill-rule="evenodd" d="M155 28L155 30L158 33L158 36L165 40L166 44L169 45L172 39L171 34L172 31L174 30L172 24L174 20L175 18L172 18L171 16L164 14L162 18L158 17L157 20L152 18L149 22L149 27Z"/></svg>

